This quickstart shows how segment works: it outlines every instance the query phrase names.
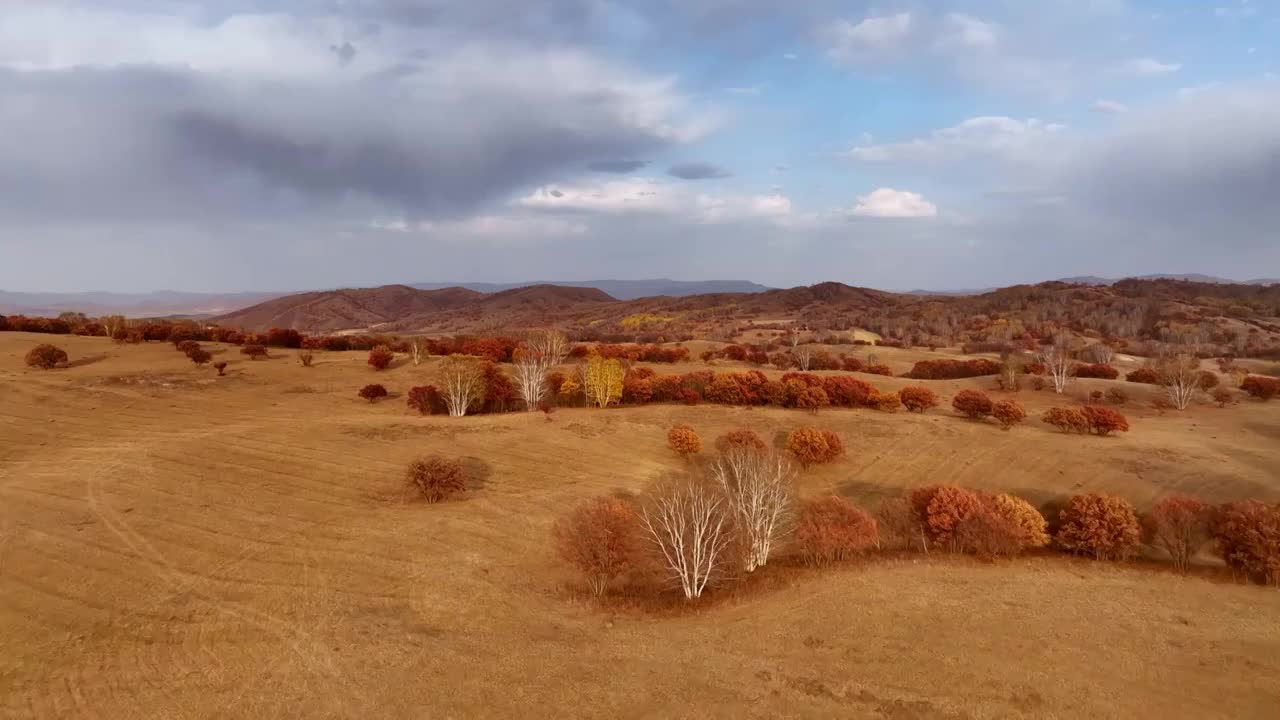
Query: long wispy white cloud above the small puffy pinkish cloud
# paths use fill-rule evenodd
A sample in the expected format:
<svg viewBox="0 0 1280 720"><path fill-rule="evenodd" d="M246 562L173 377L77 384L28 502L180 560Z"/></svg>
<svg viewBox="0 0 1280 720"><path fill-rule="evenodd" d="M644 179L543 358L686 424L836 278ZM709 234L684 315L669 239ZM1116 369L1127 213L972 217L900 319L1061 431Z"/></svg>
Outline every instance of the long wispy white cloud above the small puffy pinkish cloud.
<svg viewBox="0 0 1280 720"><path fill-rule="evenodd" d="M960 161L984 156L1007 156L1066 129L1059 123L1019 120L1001 115L970 118L955 127L933 131L928 137L905 142L863 143L847 155L867 163Z"/></svg>

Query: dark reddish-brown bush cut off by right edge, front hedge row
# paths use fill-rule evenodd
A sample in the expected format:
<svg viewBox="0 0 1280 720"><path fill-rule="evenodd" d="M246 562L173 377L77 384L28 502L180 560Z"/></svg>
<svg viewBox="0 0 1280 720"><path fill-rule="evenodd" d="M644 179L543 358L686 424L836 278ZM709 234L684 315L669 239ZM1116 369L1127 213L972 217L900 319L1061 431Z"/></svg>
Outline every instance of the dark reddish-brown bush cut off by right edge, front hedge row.
<svg viewBox="0 0 1280 720"><path fill-rule="evenodd" d="M1280 585L1280 503L1229 502L1219 507L1212 534L1233 573Z"/></svg>

